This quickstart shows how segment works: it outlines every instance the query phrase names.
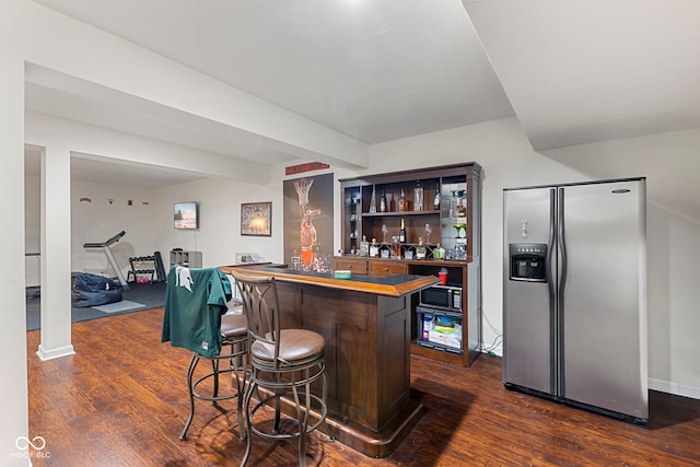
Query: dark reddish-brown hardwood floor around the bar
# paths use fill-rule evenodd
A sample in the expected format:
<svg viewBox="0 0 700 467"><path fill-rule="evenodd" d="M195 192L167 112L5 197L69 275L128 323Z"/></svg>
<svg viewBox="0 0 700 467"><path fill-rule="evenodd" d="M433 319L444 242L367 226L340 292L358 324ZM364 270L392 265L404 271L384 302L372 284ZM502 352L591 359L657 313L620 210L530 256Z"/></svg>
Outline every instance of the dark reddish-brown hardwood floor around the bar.
<svg viewBox="0 0 700 467"><path fill-rule="evenodd" d="M235 400L197 405L189 437L189 352L161 343L162 308L73 325L75 355L40 362L27 332L30 437L46 440L34 466L235 466ZM504 389L501 360L469 369L412 357L422 420L389 457L373 459L313 433L307 464L320 466L700 465L700 400L651 392L638 427ZM249 465L296 465L296 442L253 437Z"/></svg>

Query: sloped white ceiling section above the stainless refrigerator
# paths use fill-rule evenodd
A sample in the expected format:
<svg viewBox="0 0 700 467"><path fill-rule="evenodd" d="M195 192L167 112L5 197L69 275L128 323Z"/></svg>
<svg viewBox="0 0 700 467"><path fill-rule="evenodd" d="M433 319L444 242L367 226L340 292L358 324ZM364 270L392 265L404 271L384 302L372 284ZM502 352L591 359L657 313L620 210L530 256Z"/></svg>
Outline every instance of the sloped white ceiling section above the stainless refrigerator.
<svg viewBox="0 0 700 467"><path fill-rule="evenodd" d="M464 4L535 150L700 127L700 1Z"/></svg>

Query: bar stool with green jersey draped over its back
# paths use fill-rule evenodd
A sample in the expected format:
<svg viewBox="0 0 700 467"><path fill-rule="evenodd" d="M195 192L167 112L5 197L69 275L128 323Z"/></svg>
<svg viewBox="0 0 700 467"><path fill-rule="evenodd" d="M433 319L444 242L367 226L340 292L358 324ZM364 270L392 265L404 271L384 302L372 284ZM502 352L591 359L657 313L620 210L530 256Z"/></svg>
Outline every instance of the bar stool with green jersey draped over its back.
<svg viewBox="0 0 700 467"><path fill-rule="evenodd" d="M187 371L189 417L180 440L186 439L195 417L195 399L208 400L218 406L221 400L237 397L240 436L243 440L247 435L243 422L243 395L247 372L248 326L245 314L228 313L231 296L231 282L215 268L171 268L162 341L170 340L173 347L192 351ZM195 380L195 371L202 359L211 361L211 372ZM221 361L228 361L228 366L220 367ZM219 380L223 374L231 374L234 387L220 394ZM202 394L203 386L198 392L198 387L205 382L210 382L207 394Z"/></svg>

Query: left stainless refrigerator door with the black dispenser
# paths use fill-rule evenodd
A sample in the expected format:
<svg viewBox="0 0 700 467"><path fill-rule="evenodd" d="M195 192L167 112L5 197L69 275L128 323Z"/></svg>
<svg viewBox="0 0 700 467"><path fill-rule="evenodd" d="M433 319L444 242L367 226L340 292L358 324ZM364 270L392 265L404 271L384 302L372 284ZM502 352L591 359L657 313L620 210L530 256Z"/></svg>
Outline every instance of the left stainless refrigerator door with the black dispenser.
<svg viewBox="0 0 700 467"><path fill-rule="evenodd" d="M551 196L549 188L503 192L503 382L550 394L556 369L550 283L512 280L510 245L548 243Z"/></svg>

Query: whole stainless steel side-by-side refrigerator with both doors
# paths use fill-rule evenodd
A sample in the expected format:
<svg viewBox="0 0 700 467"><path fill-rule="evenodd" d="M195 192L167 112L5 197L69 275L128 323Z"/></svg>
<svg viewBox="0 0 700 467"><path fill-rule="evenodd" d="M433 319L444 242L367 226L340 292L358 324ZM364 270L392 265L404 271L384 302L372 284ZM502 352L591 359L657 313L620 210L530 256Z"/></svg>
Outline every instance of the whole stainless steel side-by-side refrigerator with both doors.
<svg viewBox="0 0 700 467"><path fill-rule="evenodd" d="M644 178L503 191L503 383L645 423Z"/></svg>

